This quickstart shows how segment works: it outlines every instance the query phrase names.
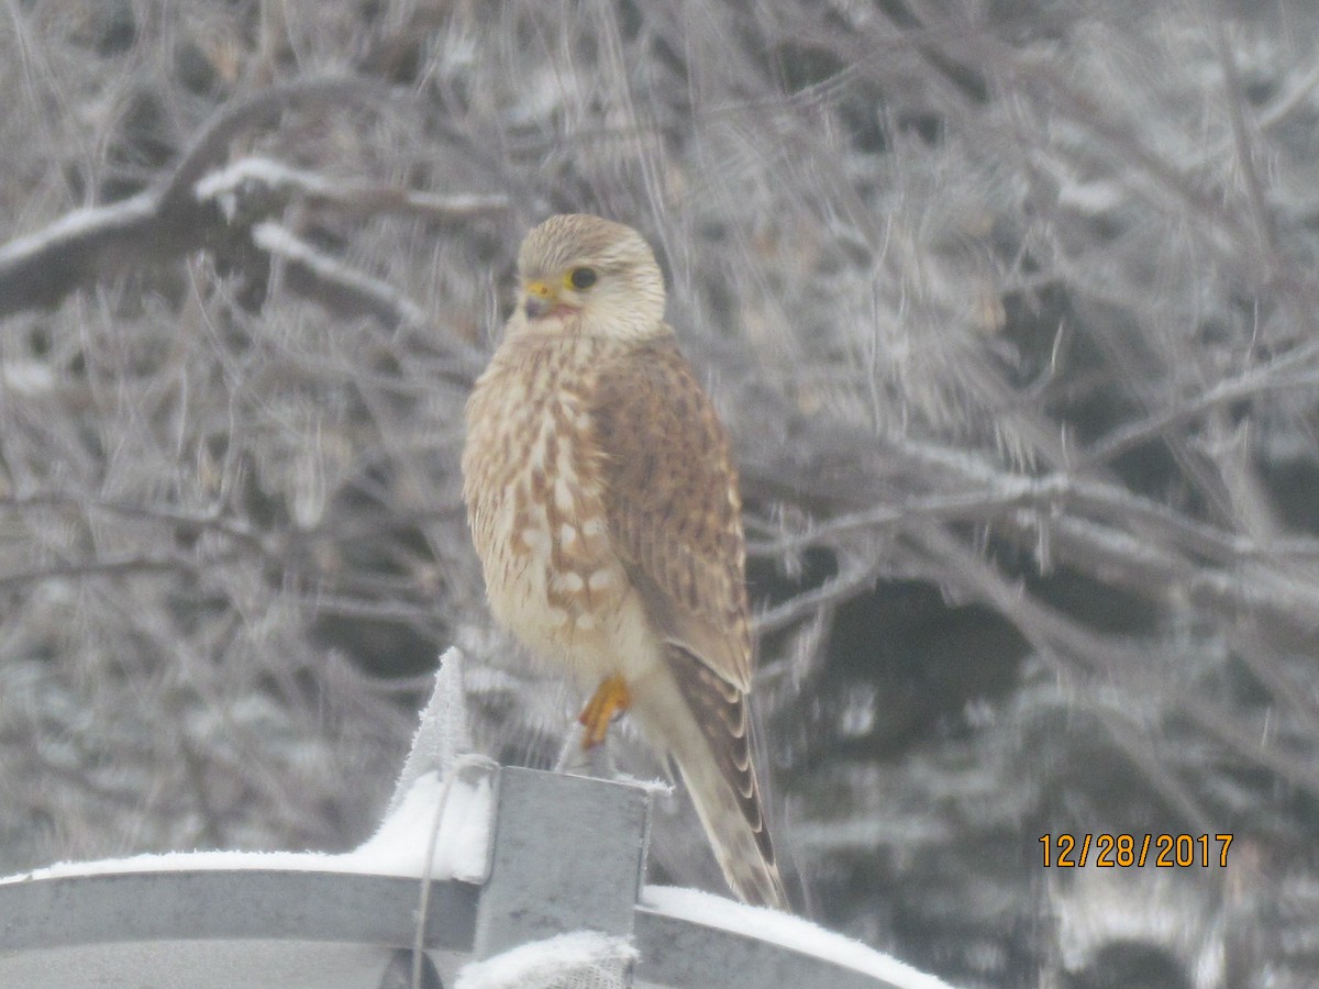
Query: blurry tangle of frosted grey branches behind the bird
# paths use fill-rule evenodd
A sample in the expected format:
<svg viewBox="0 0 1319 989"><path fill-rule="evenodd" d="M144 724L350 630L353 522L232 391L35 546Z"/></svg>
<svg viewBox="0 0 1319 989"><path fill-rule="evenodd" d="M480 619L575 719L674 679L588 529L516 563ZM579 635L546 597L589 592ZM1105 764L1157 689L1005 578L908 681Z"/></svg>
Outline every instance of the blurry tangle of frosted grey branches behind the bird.
<svg viewBox="0 0 1319 989"><path fill-rule="evenodd" d="M1319 980L1312 3L0 25L0 873L357 845L454 642L480 748L553 758L456 464L516 245L583 210L736 436L805 910L966 986ZM1233 840L1043 868L1100 832ZM692 843L653 878L719 889Z"/></svg>

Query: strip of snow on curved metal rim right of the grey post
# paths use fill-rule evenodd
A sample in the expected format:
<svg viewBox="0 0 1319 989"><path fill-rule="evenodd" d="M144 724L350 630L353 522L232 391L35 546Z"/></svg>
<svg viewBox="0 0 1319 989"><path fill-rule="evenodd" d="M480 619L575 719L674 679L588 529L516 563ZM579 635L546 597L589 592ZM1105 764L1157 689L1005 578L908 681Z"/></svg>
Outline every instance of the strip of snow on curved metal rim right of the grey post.
<svg viewBox="0 0 1319 989"><path fill-rule="evenodd" d="M918 972L861 942L778 910L735 903L712 893L675 886L646 886L641 891L641 906L691 923L772 942L789 951L886 980L898 989L951 989L943 980Z"/></svg>

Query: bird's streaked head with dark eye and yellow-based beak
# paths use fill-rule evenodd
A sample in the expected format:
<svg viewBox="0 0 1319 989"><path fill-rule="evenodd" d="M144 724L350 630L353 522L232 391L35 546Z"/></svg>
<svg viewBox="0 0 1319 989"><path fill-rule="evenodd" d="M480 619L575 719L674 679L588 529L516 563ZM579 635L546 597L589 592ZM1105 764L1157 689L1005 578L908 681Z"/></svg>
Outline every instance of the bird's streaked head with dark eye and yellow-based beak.
<svg viewBox="0 0 1319 989"><path fill-rule="evenodd" d="M551 216L517 255L518 315L541 332L663 332L663 276L641 235L599 216Z"/></svg>

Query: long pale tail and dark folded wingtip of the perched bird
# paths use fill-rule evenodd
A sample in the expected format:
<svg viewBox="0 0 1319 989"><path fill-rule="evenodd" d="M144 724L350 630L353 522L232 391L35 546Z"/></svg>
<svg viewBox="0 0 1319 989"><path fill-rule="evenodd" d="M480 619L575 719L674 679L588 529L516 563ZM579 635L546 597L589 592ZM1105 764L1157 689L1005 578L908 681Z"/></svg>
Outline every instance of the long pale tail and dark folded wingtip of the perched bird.
<svg viewBox="0 0 1319 989"><path fill-rule="evenodd" d="M682 773L715 860L737 897L787 909L751 754L747 695L687 650L665 650L669 683L633 708Z"/></svg>

